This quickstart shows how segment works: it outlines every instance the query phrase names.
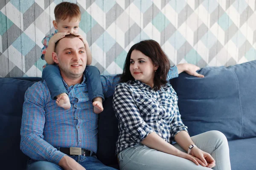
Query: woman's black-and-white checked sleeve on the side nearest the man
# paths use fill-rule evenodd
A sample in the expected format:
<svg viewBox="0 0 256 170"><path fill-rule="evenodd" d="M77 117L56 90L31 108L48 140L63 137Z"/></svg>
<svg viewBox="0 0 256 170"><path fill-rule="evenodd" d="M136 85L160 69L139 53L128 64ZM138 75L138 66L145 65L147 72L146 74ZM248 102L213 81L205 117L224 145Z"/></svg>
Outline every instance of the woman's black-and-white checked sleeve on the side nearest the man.
<svg viewBox="0 0 256 170"><path fill-rule="evenodd" d="M113 108L117 119L124 127L125 133L128 133L134 142L142 141L149 133L153 132L141 117L131 92L125 84L119 84L116 87L113 96Z"/></svg>

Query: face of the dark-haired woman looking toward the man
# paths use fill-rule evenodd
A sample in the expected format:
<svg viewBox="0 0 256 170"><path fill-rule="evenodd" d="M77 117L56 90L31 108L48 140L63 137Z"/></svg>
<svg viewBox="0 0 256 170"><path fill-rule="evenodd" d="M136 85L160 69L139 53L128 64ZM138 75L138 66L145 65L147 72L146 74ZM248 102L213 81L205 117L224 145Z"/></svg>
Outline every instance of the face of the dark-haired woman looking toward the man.
<svg viewBox="0 0 256 170"><path fill-rule="evenodd" d="M155 66L152 60L145 56L142 52L134 50L131 52L130 72L132 77L136 80L154 86L154 71L158 66Z"/></svg>

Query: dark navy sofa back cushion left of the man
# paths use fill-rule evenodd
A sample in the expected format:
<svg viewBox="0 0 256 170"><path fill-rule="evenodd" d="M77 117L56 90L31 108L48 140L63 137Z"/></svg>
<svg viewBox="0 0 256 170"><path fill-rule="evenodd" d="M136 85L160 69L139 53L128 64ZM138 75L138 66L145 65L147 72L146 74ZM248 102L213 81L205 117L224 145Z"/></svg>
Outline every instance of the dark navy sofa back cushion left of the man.
<svg viewBox="0 0 256 170"><path fill-rule="evenodd" d="M20 150L20 124L24 94L33 82L0 78L0 153L7 169L24 169L27 156ZM10 159L17 156L15 164Z"/></svg>

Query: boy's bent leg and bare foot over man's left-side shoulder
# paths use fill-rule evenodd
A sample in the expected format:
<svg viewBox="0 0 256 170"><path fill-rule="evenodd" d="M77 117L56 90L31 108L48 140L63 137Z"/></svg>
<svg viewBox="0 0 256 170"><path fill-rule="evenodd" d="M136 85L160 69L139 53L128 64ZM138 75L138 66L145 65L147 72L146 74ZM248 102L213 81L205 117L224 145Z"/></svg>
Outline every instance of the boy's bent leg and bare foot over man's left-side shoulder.
<svg viewBox="0 0 256 170"><path fill-rule="evenodd" d="M49 91L51 92L52 99L56 99L57 105L64 109L69 109L70 100L61 79L58 65L47 65L43 69L42 79L45 80Z"/></svg>

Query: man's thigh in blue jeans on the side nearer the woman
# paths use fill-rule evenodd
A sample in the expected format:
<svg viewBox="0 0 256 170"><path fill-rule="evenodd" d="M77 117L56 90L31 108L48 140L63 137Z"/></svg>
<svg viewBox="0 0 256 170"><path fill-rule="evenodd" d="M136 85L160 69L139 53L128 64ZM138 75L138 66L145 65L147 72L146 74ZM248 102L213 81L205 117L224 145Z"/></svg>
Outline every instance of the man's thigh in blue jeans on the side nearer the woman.
<svg viewBox="0 0 256 170"><path fill-rule="evenodd" d="M76 161L86 170L116 170L113 167L106 166L101 161L99 161L99 159L96 159L95 156L78 156L78 160Z"/></svg>

